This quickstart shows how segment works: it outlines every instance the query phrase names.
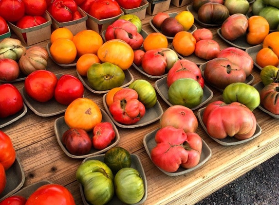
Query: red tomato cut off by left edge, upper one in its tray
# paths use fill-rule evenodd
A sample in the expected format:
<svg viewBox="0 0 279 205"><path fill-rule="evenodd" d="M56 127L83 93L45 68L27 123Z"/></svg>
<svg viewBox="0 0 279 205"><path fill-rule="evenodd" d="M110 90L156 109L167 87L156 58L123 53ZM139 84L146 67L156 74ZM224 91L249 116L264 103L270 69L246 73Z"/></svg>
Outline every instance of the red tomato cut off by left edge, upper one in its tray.
<svg viewBox="0 0 279 205"><path fill-rule="evenodd" d="M16 160L16 151L11 138L0 131L0 164L8 170Z"/></svg>

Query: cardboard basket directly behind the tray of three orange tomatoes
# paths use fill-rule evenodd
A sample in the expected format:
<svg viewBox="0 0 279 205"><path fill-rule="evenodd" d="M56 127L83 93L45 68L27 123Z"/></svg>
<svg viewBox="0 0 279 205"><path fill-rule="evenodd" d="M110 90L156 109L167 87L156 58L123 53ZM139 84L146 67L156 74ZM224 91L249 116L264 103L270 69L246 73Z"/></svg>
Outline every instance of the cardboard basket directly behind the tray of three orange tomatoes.
<svg viewBox="0 0 279 205"><path fill-rule="evenodd" d="M87 14L79 7L77 10L81 14L81 18L77 20L67 21L67 22L58 22L52 15L48 12L50 17L52 18L52 28L54 30L58 28L67 28L69 29L74 35L80 31L86 30L86 20L88 19Z"/></svg>

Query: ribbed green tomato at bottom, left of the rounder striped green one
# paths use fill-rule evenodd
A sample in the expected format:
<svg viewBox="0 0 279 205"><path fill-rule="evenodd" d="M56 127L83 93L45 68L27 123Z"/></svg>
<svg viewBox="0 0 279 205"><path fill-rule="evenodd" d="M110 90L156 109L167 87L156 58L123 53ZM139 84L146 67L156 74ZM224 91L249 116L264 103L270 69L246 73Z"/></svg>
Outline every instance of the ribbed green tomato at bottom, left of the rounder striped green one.
<svg viewBox="0 0 279 205"><path fill-rule="evenodd" d="M114 194L113 174L102 161L87 160L76 171L76 179L83 186L84 196L93 205L105 205Z"/></svg>

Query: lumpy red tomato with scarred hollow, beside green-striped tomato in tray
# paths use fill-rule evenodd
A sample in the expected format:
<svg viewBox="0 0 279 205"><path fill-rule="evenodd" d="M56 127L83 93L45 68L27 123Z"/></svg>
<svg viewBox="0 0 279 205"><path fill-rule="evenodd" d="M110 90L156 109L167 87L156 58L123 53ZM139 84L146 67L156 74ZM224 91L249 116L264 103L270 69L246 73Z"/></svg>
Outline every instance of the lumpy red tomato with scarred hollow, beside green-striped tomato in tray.
<svg viewBox="0 0 279 205"><path fill-rule="evenodd" d="M145 106L138 100L138 94L131 88L123 88L113 96L110 112L115 121L134 124L145 116Z"/></svg>

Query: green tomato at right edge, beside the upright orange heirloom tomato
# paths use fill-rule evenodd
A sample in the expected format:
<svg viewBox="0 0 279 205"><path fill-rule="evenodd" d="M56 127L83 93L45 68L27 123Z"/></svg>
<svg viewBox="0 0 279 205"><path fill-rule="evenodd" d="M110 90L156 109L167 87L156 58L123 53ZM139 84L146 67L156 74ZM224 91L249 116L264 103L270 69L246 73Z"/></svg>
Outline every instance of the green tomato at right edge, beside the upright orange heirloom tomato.
<svg viewBox="0 0 279 205"><path fill-rule="evenodd" d="M260 10L259 16L264 17L270 30L275 30L279 24L279 9L274 6L266 6Z"/></svg>

